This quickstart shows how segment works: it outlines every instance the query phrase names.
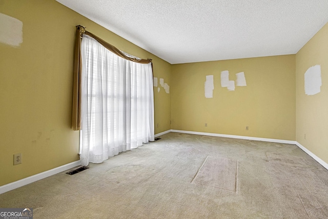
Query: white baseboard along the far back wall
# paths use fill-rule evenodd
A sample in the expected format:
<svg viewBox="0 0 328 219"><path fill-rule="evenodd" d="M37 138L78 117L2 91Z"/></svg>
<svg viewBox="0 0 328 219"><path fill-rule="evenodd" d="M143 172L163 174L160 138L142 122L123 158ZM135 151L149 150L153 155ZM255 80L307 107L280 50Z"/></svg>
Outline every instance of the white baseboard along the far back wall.
<svg viewBox="0 0 328 219"><path fill-rule="evenodd" d="M230 137L230 138L238 138L238 139L245 139L245 140L254 140L254 141L261 141L261 142L274 142L274 143L283 143L283 144L291 144L291 145L296 144L295 141L279 140L279 139L273 139L273 138L249 137L249 136L230 135L230 134L216 134L216 133L208 133L208 132L182 131L182 130L174 130L174 129L171 129L171 132L208 135L208 136L216 136L216 137Z"/></svg>

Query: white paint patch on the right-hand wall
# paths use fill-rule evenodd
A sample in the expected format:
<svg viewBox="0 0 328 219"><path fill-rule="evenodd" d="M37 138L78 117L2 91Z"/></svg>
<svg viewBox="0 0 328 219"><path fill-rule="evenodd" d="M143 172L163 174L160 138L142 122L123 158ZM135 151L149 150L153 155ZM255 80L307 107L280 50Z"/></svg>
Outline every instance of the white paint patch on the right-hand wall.
<svg viewBox="0 0 328 219"><path fill-rule="evenodd" d="M321 85L321 66L315 65L306 70L304 73L305 94L314 95L319 93Z"/></svg>

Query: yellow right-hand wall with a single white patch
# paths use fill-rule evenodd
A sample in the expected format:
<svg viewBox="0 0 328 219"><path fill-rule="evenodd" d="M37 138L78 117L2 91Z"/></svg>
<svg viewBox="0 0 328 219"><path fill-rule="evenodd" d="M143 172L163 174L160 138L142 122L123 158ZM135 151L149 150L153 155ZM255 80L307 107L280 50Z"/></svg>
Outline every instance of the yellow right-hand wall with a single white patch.
<svg viewBox="0 0 328 219"><path fill-rule="evenodd" d="M321 91L306 95L304 73L314 65L321 65ZM296 141L328 163L328 24L296 54Z"/></svg>

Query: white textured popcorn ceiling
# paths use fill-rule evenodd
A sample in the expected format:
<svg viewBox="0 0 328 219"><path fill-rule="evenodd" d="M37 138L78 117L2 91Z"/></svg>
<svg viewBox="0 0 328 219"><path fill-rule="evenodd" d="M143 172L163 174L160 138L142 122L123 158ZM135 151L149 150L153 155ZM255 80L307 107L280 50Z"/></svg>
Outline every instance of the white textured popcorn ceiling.
<svg viewBox="0 0 328 219"><path fill-rule="evenodd" d="M328 22L327 0L56 1L171 64L295 54Z"/></svg>

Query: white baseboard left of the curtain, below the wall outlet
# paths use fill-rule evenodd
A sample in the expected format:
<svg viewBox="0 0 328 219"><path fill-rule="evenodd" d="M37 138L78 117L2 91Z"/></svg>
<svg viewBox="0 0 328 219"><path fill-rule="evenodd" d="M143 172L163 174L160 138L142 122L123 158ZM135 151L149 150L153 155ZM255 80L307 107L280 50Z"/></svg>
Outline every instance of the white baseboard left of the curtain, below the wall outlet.
<svg viewBox="0 0 328 219"><path fill-rule="evenodd" d="M27 184L30 184L30 183L33 183L33 182L36 182L36 181L42 180L43 178L47 178L47 177L52 176L54 174L57 174L57 173L72 169L72 168L77 167L79 165L81 165L81 162L80 161L75 161L75 162L60 166L60 167L56 167L56 168L51 169L51 170L47 170L47 171L42 172L42 173L38 173L38 174L35 174L35 175L32 175L32 176L23 178L22 180L18 180L18 181L15 181L15 182L0 186L0 194L8 192L8 191L16 189L16 188L19 188L19 187L22 187L22 186L25 186Z"/></svg>

